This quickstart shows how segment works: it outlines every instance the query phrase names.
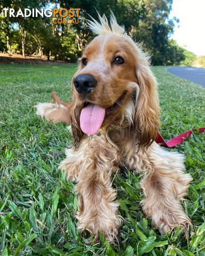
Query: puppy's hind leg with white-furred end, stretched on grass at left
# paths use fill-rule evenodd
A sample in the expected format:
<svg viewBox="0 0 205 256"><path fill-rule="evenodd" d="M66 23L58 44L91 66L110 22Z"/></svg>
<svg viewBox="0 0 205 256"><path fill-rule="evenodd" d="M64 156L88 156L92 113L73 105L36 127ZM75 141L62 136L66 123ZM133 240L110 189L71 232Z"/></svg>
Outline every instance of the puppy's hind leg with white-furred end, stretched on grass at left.
<svg viewBox="0 0 205 256"><path fill-rule="evenodd" d="M70 109L72 102L64 103L60 100L55 92L52 92L52 97L55 103L38 103L35 108L37 109L37 115L42 118L45 117L46 120L51 120L53 123L70 123Z"/></svg>

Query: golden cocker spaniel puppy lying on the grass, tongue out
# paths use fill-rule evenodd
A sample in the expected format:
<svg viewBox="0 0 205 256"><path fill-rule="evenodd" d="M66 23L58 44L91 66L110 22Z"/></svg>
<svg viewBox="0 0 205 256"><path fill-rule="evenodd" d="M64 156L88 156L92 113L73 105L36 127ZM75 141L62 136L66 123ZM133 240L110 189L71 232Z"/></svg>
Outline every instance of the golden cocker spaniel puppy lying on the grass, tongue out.
<svg viewBox="0 0 205 256"><path fill-rule="evenodd" d="M149 57L125 34L111 14L110 26L88 21L97 34L72 78L72 102L39 103L37 114L70 123L73 146L60 168L76 181L78 229L99 230L112 242L121 226L111 175L125 165L143 173L143 211L161 234L192 226L180 201L192 180L184 157L161 148L157 137L159 101Z"/></svg>

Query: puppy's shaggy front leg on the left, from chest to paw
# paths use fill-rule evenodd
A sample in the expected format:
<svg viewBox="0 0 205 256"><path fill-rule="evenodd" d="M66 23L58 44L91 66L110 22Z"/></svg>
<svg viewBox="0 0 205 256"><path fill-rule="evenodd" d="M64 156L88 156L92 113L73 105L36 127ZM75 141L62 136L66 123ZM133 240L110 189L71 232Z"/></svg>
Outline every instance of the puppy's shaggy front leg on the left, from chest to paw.
<svg viewBox="0 0 205 256"><path fill-rule="evenodd" d="M69 179L77 179L78 229L90 231L95 239L99 230L112 242L121 226L116 190L112 188L111 173L116 171L118 152L103 135L86 138L78 150L68 151L60 165ZM71 163L72 162L72 163Z"/></svg>

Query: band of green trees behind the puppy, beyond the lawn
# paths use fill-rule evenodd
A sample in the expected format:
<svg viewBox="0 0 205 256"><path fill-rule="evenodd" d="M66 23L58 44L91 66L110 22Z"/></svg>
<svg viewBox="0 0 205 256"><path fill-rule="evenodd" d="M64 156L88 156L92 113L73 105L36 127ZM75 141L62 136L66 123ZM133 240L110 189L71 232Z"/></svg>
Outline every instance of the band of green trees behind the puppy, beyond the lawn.
<svg viewBox="0 0 205 256"><path fill-rule="evenodd" d="M0 51L10 54L45 55L47 59L72 62L80 57L85 45L94 37L87 29L86 18L97 19L97 12L109 17L114 12L119 25L136 41L143 41L143 49L152 54L154 65L178 65L185 59L183 50L169 40L177 19L169 19L173 0L2 0L0 7L46 6L59 9L80 7L78 25L52 24L51 18L0 17ZM89 14L89 15L88 15ZM59 16L57 16L59 18Z"/></svg>

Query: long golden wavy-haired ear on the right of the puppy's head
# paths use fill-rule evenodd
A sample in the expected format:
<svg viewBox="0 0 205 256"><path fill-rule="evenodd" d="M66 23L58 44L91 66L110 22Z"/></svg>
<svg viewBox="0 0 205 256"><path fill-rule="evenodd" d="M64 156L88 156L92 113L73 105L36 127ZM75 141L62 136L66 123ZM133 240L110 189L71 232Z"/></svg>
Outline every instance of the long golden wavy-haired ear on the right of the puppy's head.
<svg viewBox="0 0 205 256"><path fill-rule="evenodd" d="M157 81L149 64L147 62L144 64L136 68L140 94L135 110L135 127L137 129L137 141L142 148L151 145L157 137L160 126Z"/></svg>

